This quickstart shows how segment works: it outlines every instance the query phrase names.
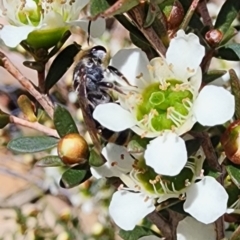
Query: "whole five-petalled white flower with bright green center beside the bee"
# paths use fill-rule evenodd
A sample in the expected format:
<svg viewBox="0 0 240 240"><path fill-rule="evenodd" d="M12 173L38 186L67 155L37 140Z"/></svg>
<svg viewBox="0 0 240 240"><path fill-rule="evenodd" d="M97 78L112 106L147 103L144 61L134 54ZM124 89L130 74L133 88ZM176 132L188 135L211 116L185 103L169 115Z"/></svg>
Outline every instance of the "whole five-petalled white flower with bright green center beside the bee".
<svg viewBox="0 0 240 240"><path fill-rule="evenodd" d="M223 124L234 114L230 92L210 85L200 89L203 56L198 37L179 30L166 58L149 62L140 49L125 49L112 59L111 64L135 88L125 84L126 94L119 97L120 105L98 105L93 117L112 131L131 128L141 137L156 137L148 145L145 159L159 174L174 176L185 166L186 147L179 136L196 122L204 126Z"/></svg>

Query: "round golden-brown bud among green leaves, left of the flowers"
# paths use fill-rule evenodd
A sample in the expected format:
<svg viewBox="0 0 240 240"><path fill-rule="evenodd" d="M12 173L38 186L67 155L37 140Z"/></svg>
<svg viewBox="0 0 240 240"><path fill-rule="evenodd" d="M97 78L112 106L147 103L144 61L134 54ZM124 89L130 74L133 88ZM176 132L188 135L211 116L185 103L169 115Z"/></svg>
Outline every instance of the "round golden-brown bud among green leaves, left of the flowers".
<svg viewBox="0 0 240 240"><path fill-rule="evenodd" d="M70 133L58 142L58 155L65 164L83 163L88 159L89 149L85 139L78 133Z"/></svg>

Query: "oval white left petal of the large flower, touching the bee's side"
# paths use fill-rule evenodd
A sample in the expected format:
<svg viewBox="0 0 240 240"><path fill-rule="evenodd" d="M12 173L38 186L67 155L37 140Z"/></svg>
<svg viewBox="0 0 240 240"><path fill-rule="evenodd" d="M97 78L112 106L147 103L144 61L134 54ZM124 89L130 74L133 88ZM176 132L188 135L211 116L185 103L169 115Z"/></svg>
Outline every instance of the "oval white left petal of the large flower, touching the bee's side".
<svg viewBox="0 0 240 240"><path fill-rule="evenodd" d="M131 128L136 124L133 115L115 103L99 104L93 112L93 118L103 127L115 132Z"/></svg>

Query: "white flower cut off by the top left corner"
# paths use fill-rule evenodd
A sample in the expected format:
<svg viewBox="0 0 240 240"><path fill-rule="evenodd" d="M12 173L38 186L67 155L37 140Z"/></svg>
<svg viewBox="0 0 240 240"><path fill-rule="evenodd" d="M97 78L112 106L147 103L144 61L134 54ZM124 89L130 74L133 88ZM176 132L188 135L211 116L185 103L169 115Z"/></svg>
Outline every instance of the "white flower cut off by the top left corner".
<svg viewBox="0 0 240 240"><path fill-rule="evenodd" d="M2 26L0 38L7 46L16 47L34 30L55 30L55 37L60 30L64 32L76 26L87 31L89 21L78 20L78 17L88 3L89 0L0 0L0 16L5 17L11 24ZM99 36L104 29L105 20L93 21L91 35Z"/></svg>

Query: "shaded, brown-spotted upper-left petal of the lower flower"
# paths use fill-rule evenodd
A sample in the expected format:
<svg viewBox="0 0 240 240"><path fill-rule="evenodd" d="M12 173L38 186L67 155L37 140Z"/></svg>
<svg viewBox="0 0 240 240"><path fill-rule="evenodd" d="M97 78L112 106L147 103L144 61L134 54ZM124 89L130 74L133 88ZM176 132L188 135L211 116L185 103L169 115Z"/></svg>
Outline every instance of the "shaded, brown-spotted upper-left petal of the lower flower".
<svg viewBox="0 0 240 240"><path fill-rule="evenodd" d="M113 169L121 169L121 173L128 173L131 171L134 159L130 156L125 147L114 143L108 143L107 146L103 148L102 154Z"/></svg>

